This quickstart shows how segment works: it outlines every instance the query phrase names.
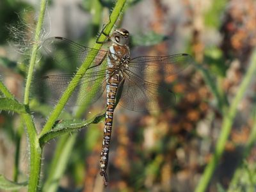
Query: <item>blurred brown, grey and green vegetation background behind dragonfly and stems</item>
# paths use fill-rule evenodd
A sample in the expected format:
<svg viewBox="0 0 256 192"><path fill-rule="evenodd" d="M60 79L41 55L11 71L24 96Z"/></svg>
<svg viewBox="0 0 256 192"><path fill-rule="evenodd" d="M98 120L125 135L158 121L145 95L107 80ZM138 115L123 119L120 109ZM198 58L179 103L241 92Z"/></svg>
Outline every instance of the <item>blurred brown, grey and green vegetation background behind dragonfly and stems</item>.
<svg viewBox="0 0 256 192"><path fill-rule="evenodd" d="M49 1L41 40L63 36L92 46L102 24L108 22L114 3L111 0ZM20 100L38 8L38 1L0 2L1 81ZM178 101L173 108L157 113L116 108L107 189L103 189L99 175L103 123L90 125L72 136L62 136L45 146L43 189L57 189L49 187L49 178L63 172L57 185L59 191L194 191L220 137L225 109L236 97L250 65L256 45L255 10L254 0L128 1L116 26L131 33L132 56L187 52L204 70L190 66L177 76L159 77L167 84L174 83L172 88ZM38 57L35 77L60 71L67 74L77 67L58 64L42 54ZM238 104L225 152L207 191L256 188L253 141L244 158L245 147L255 132L253 127L256 128L255 80L254 77ZM50 109L47 103L33 100L31 111L35 111L38 130ZM102 109L95 106L90 112L99 113ZM72 110L67 109L62 116L71 118ZM90 113L83 113L80 118L88 116ZM28 173L23 130L18 115L1 111L0 174L10 180L26 180ZM13 164L19 164L18 168ZM56 170L60 164L63 166Z"/></svg>

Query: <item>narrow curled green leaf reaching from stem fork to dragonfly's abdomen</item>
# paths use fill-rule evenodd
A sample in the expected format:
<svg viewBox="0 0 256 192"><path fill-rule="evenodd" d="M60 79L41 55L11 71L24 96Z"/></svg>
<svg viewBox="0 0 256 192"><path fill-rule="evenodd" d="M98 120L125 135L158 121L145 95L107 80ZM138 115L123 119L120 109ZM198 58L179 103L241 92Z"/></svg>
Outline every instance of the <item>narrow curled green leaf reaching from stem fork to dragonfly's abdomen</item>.
<svg viewBox="0 0 256 192"><path fill-rule="evenodd" d="M51 131L46 132L40 137L39 143L41 146L43 146L53 138L59 137L68 132L78 131L79 129L83 129L90 124L97 124L104 119L104 116L105 113L100 113L89 120L59 120L55 122Z"/></svg>

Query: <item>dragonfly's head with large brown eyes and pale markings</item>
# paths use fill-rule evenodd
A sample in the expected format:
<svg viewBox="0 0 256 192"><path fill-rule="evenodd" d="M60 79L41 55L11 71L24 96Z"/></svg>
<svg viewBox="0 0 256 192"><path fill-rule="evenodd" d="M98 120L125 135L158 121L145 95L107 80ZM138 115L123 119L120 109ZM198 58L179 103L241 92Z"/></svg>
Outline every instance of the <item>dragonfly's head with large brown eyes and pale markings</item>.
<svg viewBox="0 0 256 192"><path fill-rule="evenodd" d="M118 45L128 45L129 44L129 31L126 29L115 29L114 33L111 35L111 41Z"/></svg>

